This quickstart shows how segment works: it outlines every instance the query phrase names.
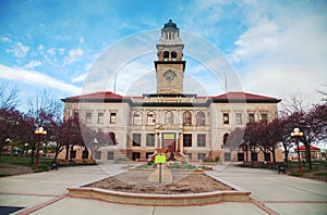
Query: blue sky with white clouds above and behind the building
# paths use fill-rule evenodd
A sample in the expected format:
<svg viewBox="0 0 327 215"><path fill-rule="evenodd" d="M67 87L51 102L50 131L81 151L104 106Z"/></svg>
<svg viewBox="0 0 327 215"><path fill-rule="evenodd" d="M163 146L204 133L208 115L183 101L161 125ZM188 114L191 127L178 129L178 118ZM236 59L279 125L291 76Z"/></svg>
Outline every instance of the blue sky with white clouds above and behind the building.
<svg viewBox="0 0 327 215"><path fill-rule="evenodd" d="M112 45L159 30L171 18L214 45L244 91L280 99L301 93L315 102L316 90L327 85L326 11L324 0L0 0L0 78L17 86L22 98L43 89L58 98L78 94L89 68ZM155 54L136 58L122 71L155 78L154 60ZM208 94L223 92L209 83L203 62L189 60L185 73L199 86L214 86ZM131 92L122 89L129 87L128 72L118 78L118 93Z"/></svg>

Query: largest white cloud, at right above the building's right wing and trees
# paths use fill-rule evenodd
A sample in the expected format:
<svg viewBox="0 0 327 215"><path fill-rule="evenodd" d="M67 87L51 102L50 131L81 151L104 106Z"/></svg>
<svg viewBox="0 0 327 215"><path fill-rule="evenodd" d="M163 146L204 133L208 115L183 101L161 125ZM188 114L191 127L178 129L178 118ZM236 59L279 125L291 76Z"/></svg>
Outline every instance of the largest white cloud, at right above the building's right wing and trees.
<svg viewBox="0 0 327 215"><path fill-rule="evenodd" d="M257 23L235 42L232 55L243 88L281 99L302 93L317 102L316 90L327 83L326 22L315 15L279 15L279 23Z"/></svg>

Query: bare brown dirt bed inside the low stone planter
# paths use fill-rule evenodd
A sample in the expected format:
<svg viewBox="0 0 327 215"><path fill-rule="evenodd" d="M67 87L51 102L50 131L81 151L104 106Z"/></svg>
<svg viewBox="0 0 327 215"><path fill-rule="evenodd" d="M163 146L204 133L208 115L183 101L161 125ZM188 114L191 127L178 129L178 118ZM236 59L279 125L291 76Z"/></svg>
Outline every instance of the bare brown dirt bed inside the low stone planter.
<svg viewBox="0 0 327 215"><path fill-rule="evenodd" d="M167 185L149 182L148 176L148 172L128 172L113 177L105 178L85 187L132 193L146 192L156 194L202 193L234 190L233 188L226 186L225 184L206 175L174 173L173 182Z"/></svg>

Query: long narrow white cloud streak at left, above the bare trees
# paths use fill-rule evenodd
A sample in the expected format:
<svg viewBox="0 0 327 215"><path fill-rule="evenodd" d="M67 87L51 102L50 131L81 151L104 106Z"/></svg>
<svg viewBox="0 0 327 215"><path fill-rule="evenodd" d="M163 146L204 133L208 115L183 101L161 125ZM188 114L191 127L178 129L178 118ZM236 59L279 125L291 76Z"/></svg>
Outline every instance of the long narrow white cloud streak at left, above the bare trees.
<svg viewBox="0 0 327 215"><path fill-rule="evenodd" d="M81 89L78 87L65 84L39 72L11 68L2 64L0 64L0 78L2 79L24 83L33 87L52 88L71 94L81 93Z"/></svg>

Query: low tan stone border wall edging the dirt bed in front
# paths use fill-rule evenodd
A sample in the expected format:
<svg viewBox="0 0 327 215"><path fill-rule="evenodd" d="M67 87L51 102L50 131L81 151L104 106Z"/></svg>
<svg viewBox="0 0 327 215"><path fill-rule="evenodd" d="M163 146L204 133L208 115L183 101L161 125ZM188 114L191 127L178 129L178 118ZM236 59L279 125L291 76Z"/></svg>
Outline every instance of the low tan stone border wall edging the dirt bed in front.
<svg viewBox="0 0 327 215"><path fill-rule="evenodd" d="M221 181L209 173L209 177L233 188L231 191L213 191L203 193L187 194L154 194L154 193L129 193L99 188L78 186L68 188L69 195L75 198L104 200L112 203L132 204L132 205L150 205L150 206L186 206L217 204L219 202L246 202L250 201L251 192L238 188L228 182ZM90 184L90 182L89 182Z"/></svg>

